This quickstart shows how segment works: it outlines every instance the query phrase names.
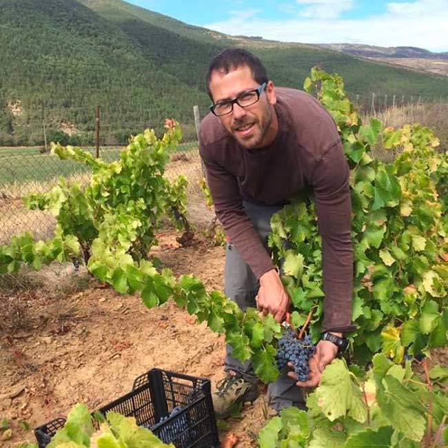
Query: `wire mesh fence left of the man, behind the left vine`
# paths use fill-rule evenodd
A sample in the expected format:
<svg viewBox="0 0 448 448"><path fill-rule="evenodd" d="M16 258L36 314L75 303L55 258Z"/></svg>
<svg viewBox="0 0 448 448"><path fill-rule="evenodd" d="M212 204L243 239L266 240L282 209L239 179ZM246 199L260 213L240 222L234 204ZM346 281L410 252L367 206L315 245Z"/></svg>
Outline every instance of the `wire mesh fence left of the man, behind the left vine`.
<svg viewBox="0 0 448 448"><path fill-rule="evenodd" d="M83 148L96 154L94 147ZM99 156L105 161L119 159L123 147L99 147ZM28 210L23 197L32 193L48 192L57 185L59 177L87 185L90 170L81 163L63 161L58 156L38 147L0 148L0 244L6 244L19 232L31 232L34 238L50 238L54 231L54 216L47 210ZM183 174L187 177L187 198L189 214L198 214L202 209L203 193L198 187L202 178L201 159L197 141L181 143L179 150L170 154L165 175L174 179ZM203 205L205 208L205 205ZM205 208L206 211L206 208ZM194 219L193 219L194 221Z"/></svg>

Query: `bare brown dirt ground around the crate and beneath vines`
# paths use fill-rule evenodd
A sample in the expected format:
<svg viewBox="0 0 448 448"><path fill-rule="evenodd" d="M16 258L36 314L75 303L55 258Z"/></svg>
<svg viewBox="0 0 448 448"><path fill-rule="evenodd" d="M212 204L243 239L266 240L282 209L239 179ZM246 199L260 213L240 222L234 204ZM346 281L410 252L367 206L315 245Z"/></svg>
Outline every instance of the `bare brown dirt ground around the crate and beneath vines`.
<svg viewBox="0 0 448 448"><path fill-rule="evenodd" d="M154 254L163 265L221 289L223 247L204 242L179 247L176 236L159 236ZM52 281L59 282L57 276ZM75 403L96 409L125 394L134 378L152 367L205 376L212 387L223 377L222 335L196 325L173 302L147 309L137 296L117 294L96 281L85 287L85 281L80 276L81 290L75 293L26 288L1 298L6 315L0 320L0 421L9 420L14 435L0 441L1 448L34 440L32 428L65 416ZM28 431L21 420L30 424ZM227 420L221 438L235 432L236 447L255 447L264 421L263 398L258 398Z"/></svg>

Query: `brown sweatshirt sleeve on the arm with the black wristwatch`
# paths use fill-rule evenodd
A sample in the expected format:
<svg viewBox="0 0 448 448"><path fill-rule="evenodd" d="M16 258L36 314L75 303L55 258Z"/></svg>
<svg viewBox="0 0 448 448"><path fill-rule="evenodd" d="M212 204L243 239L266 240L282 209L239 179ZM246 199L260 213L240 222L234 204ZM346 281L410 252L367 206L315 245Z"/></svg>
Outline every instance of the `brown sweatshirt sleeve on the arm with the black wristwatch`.
<svg viewBox="0 0 448 448"><path fill-rule="evenodd" d="M352 325L352 202L349 167L340 141L316 161L310 183L322 237L325 293L322 331L351 331L355 329Z"/></svg>

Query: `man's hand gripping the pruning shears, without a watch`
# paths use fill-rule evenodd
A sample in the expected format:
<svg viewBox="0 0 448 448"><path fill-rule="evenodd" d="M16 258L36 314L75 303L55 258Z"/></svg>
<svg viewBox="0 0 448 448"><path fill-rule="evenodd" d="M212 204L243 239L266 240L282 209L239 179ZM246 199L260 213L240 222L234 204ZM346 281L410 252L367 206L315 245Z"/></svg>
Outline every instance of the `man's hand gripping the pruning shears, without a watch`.
<svg viewBox="0 0 448 448"><path fill-rule="evenodd" d="M256 298L258 311L272 314L278 322L282 322L289 309L289 296L283 287L276 269L265 272L260 279L260 289Z"/></svg>

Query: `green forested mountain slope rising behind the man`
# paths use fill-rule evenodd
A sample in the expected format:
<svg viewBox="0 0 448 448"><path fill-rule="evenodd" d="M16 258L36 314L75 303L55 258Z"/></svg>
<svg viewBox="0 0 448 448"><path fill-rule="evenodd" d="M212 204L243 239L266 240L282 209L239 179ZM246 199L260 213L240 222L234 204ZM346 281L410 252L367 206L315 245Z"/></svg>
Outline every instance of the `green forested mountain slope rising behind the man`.
<svg viewBox="0 0 448 448"><path fill-rule="evenodd" d="M445 79L301 44L227 37L121 0L1 0L0 145L41 144L50 134L125 141L174 116L194 136L192 106L207 112L204 75L230 45L249 48L278 85L300 88L313 65L343 75L352 94L447 96Z"/></svg>

